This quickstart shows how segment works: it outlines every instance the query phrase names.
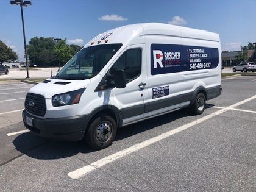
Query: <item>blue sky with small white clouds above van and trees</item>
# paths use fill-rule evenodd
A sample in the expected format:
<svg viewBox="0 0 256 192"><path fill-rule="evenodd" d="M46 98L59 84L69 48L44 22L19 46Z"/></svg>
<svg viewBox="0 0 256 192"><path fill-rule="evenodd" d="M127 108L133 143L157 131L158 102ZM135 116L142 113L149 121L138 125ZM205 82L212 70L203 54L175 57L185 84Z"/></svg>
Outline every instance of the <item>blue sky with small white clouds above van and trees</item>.
<svg viewBox="0 0 256 192"><path fill-rule="evenodd" d="M0 0L0 40L24 60L20 7ZM238 51L256 42L256 0L31 0L25 7L26 42L30 38L66 38L86 44L115 27L159 22L216 32L222 50Z"/></svg>

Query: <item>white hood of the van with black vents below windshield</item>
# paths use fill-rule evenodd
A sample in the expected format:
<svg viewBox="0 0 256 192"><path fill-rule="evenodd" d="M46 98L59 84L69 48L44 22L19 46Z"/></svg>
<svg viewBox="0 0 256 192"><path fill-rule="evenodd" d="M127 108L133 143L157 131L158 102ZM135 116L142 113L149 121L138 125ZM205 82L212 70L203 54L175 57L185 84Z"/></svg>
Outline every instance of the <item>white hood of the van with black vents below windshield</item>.
<svg viewBox="0 0 256 192"><path fill-rule="evenodd" d="M66 93L69 91L86 88L90 84L90 79L85 80L63 80L46 79L43 82L30 88L29 93L43 95L44 98L52 98L55 94Z"/></svg>

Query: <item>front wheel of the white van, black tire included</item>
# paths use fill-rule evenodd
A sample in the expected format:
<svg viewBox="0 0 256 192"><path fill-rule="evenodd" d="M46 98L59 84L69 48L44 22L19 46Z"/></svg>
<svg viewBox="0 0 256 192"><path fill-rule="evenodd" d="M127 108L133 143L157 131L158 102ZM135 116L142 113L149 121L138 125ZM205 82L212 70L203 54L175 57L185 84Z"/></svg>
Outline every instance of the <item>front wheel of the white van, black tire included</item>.
<svg viewBox="0 0 256 192"><path fill-rule="evenodd" d="M99 115L88 127L85 140L93 149L104 149L110 146L115 140L116 130L116 122L111 116ZM109 137L108 134L110 134ZM107 140L104 140L105 137Z"/></svg>

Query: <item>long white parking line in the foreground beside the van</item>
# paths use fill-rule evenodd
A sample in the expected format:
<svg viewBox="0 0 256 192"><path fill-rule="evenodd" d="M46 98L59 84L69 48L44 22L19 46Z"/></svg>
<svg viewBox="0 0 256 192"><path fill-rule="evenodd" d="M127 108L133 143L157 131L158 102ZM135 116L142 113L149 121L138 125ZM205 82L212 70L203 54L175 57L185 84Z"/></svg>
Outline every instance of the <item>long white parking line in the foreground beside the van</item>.
<svg viewBox="0 0 256 192"><path fill-rule="evenodd" d="M69 172L68 176L72 179L79 179L82 176L85 176L88 174L88 172L91 172L95 169L101 168L101 166L107 165L108 163L111 163L121 157L126 156L127 154L130 154L132 152L138 151L139 149L146 148L147 146L156 143L158 141L161 141L165 138L170 137L171 135L174 135L176 133L182 132L183 130L186 130L190 127L195 126L196 124L202 123L206 121L207 119L210 119L214 116L220 115L221 113L226 112L227 110L230 110L233 107L237 107L238 105L244 104L248 101L251 101L252 99L256 98L256 94L252 96L251 98L244 99L243 101L237 102L233 105L230 105L229 107L222 108L221 110L218 110L210 115L204 116L200 119L197 119L196 121L192 121L191 123L185 124L183 126L177 127L176 129L170 130L168 132L162 133L161 135L158 135L157 137L153 137L149 140L143 141L141 143L135 144L129 148L126 148L122 151L116 152L115 154L109 155L107 157L101 158L100 160L91 163L90 165L84 166L82 168L76 169L75 171Z"/></svg>

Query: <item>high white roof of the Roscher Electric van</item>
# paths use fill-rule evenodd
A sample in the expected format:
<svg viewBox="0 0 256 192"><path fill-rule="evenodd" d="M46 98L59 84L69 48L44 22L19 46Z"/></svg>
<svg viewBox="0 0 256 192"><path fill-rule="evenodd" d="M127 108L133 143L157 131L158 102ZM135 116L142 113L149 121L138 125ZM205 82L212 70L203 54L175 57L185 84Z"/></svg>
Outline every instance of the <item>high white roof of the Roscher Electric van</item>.
<svg viewBox="0 0 256 192"><path fill-rule="evenodd" d="M164 23L138 23L118 27L99 34L89 41L85 47L91 46L91 42L94 42L93 45L104 44L105 40L108 40L108 43L125 44L133 38L140 38L148 35L165 35L219 42L219 34L208 32L206 30L192 29ZM101 42L98 43L98 41Z"/></svg>

